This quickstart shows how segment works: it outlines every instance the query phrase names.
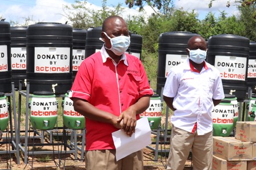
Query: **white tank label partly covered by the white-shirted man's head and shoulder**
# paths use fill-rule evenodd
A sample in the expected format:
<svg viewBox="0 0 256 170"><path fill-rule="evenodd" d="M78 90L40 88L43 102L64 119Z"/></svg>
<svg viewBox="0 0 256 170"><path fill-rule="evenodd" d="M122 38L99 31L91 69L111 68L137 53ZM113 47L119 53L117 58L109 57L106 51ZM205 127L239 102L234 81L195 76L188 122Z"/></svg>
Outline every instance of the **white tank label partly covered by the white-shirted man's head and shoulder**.
<svg viewBox="0 0 256 170"><path fill-rule="evenodd" d="M168 72L172 67L185 62L188 57L188 55L166 54L165 78L167 78Z"/></svg>

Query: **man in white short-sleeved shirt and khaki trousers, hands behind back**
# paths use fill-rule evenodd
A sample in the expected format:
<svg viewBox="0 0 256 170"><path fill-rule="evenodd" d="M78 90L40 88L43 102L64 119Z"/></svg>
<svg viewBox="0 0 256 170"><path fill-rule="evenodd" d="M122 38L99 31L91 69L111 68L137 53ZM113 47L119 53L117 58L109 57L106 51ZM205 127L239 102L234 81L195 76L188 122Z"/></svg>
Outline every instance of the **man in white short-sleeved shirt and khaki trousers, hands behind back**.
<svg viewBox="0 0 256 170"><path fill-rule="evenodd" d="M211 169L213 160L213 107L225 97L219 71L205 62L207 43L191 37L189 59L171 68L163 100L174 111L171 116L170 153L167 169L183 169L190 150L194 169Z"/></svg>

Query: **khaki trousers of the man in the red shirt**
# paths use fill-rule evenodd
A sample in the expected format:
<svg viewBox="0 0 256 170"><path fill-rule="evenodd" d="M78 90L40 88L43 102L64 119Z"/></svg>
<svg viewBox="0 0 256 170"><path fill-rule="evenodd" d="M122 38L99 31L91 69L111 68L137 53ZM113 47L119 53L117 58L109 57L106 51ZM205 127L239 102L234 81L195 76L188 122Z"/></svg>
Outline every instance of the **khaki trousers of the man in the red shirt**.
<svg viewBox="0 0 256 170"><path fill-rule="evenodd" d="M87 170L143 170L143 152L137 151L115 160L115 150L86 151Z"/></svg>

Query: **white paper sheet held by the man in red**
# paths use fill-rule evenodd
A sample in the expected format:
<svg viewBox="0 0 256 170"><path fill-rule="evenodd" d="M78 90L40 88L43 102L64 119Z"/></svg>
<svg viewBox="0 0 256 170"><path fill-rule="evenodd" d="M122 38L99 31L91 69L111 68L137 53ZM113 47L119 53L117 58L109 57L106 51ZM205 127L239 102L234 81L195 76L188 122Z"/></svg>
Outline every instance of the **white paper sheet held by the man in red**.
<svg viewBox="0 0 256 170"><path fill-rule="evenodd" d="M115 144L115 157L118 160L137 152L147 145L151 144L151 129L147 117L137 120L135 133L128 136L123 130L118 130L112 133Z"/></svg>

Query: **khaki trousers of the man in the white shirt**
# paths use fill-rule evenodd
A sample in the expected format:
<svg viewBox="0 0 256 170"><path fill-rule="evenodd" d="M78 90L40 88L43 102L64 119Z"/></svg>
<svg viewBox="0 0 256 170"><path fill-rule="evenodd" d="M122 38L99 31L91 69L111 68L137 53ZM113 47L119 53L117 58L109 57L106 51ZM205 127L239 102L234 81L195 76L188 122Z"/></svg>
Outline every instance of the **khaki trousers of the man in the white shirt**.
<svg viewBox="0 0 256 170"><path fill-rule="evenodd" d="M213 161L213 132L198 135L173 126L167 169L183 170L190 150L194 170L209 170Z"/></svg>

